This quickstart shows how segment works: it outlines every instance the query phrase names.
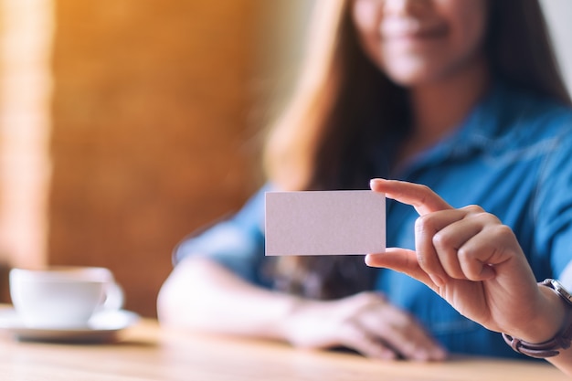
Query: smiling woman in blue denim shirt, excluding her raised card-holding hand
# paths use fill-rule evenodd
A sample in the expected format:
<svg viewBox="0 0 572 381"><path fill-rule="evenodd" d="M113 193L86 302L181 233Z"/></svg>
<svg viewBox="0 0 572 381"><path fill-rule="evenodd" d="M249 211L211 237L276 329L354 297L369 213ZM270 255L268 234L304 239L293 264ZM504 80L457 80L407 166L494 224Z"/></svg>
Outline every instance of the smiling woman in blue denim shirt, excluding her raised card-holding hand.
<svg viewBox="0 0 572 381"><path fill-rule="evenodd" d="M572 259L572 114L535 0L323 0L303 68L265 146L267 186L428 185L443 205L503 220L538 280L561 275ZM265 189L177 248L162 323L385 359L517 355L398 271L359 257L264 258ZM387 245L414 249L417 218L388 201ZM379 258L368 263L397 266Z"/></svg>

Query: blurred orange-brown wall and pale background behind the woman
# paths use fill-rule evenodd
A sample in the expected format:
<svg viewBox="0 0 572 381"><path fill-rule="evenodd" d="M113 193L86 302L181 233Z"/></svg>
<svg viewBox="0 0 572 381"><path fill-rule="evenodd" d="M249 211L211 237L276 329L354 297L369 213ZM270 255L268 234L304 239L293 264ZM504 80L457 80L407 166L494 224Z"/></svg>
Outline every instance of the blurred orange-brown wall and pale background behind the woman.
<svg viewBox="0 0 572 381"><path fill-rule="evenodd" d="M0 0L0 302L93 265L155 316L177 242L263 182L312 2ZM542 3L572 89L572 2Z"/></svg>

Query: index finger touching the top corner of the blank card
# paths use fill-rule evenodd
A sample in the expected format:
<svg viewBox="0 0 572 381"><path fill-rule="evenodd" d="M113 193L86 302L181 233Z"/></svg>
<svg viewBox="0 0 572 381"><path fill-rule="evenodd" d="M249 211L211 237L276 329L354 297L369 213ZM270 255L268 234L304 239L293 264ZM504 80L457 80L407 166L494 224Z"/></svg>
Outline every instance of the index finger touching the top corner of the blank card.
<svg viewBox="0 0 572 381"><path fill-rule="evenodd" d="M369 186L375 192L385 193L388 198L415 207L419 216L452 209L452 206L426 185L375 178L370 181Z"/></svg>

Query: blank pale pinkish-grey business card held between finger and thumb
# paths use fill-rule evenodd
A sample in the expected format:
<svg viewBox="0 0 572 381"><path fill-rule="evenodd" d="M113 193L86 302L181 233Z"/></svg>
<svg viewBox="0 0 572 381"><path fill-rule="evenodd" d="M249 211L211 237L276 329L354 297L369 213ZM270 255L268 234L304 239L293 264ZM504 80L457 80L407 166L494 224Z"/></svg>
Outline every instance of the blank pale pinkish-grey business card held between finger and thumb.
<svg viewBox="0 0 572 381"><path fill-rule="evenodd" d="M386 197L364 191L266 193L266 255L386 250Z"/></svg>

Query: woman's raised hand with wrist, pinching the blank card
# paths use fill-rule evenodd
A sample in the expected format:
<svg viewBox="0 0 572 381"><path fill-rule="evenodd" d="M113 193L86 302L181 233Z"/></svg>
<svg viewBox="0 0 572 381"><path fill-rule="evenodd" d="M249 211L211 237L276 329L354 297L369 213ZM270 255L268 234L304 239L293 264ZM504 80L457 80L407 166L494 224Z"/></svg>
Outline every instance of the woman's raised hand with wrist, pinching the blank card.
<svg viewBox="0 0 572 381"><path fill-rule="evenodd" d="M425 185L374 179L371 188L414 206L419 218L415 250L369 254L369 266L407 273L493 331L523 337L546 323L546 297L513 231L497 217L480 206L455 209ZM536 333L540 339L553 331Z"/></svg>

